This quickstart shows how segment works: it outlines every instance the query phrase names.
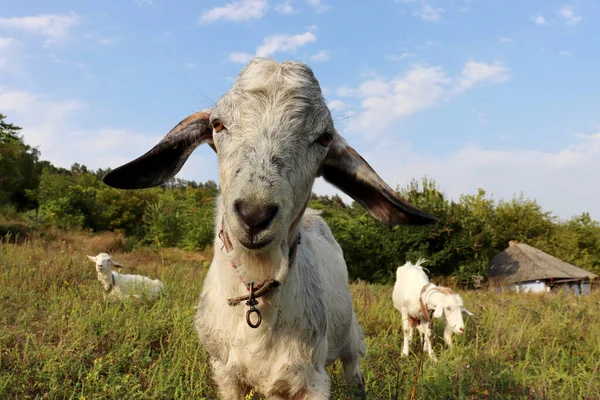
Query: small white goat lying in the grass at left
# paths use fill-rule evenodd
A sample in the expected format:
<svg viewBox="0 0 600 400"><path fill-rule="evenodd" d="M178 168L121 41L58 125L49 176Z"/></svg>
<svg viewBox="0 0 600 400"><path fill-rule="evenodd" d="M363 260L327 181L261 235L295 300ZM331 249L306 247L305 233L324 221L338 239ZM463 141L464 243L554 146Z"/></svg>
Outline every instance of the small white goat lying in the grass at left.
<svg viewBox="0 0 600 400"><path fill-rule="evenodd" d="M88 258L96 263L98 280L104 286L105 298L116 300L135 297L154 300L164 290L165 285L158 279L114 272L112 267L120 269L123 266L106 253L100 253L96 257L88 256Z"/></svg>

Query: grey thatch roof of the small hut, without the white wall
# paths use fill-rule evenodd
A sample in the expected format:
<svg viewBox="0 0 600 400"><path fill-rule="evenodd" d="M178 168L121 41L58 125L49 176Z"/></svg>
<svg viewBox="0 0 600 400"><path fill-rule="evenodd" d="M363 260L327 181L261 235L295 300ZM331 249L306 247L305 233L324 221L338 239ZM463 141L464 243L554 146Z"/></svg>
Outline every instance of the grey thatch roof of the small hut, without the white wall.
<svg viewBox="0 0 600 400"><path fill-rule="evenodd" d="M559 260L548 253L524 243L511 241L506 250L490 262L490 279L503 283L528 282L545 279L594 279L584 269Z"/></svg>

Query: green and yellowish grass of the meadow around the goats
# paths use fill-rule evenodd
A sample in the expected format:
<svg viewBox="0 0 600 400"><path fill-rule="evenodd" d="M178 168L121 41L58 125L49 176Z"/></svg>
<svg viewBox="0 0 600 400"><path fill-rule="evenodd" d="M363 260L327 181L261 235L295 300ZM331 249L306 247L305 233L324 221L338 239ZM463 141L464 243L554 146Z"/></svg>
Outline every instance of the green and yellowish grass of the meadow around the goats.
<svg viewBox="0 0 600 400"><path fill-rule="evenodd" d="M126 248L123 238L46 235L0 243L0 399L216 399L193 327L210 254ZM126 272L160 278L157 302L102 299L85 257L111 249ZM401 317L389 286L351 286L365 332L369 399L407 399L419 361L401 358ZM466 333L425 358L423 399L600 399L600 294L574 297L464 292ZM341 365L332 399L346 398ZM256 396L255 396L256 397Z"/></svg>

